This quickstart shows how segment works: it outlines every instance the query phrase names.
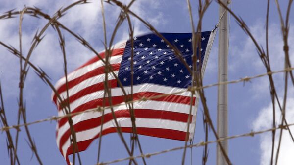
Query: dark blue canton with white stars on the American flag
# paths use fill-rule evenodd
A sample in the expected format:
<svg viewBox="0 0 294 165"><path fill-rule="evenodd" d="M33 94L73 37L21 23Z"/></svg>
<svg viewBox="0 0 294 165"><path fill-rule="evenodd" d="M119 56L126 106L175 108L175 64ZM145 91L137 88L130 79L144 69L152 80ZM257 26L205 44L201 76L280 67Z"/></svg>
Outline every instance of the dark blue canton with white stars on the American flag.
<svg viewBox="0 0 294 165"><path fill-rule="evenodd" d="M161 33L181 52L184 60L192 69L192 34ZM202 66L210 31L201 33L201 59L197 64ZM197 52L199 50L197 49ZM199 57L199 56L198 56ZM165 86L187 88L191 85L191 74L184 64L173 53L172 49L155 34L134 37L133 84L153 83ZM131 85L131 45L127 41L119 79L123 86Z"/></svg>

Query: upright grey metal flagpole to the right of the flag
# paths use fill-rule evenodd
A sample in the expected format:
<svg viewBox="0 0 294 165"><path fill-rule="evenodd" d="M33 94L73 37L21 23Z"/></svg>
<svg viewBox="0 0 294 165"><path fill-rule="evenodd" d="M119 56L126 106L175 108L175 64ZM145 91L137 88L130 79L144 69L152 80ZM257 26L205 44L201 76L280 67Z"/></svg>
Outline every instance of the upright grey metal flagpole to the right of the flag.
<svg viewBox="0 0 294 165"><path fill-rule="evenodd" d="M227 4L228 0L221 0L222 3ZM228 80L228 19L225 8L220 5L219 17L221 23L219 24L219 82L225 82ZM223 18L221 16L223 15ZM218 86L218 136L219 138L225 138L228 135L228 106L227 106L227 84ZM226 153L228 153L227 140L221 141ZM217 145L217 165L227 165L221 148Z"/></svg>

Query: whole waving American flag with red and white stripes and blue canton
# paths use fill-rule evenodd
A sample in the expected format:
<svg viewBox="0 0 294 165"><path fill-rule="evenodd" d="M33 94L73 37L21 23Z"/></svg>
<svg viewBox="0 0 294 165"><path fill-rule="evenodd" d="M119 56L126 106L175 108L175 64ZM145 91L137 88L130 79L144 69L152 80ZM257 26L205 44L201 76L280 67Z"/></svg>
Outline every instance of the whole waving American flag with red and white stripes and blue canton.
<svg viewBox="0 0 294 165"><path fill-rule="evenodd" d="M191 33L161 33L172 45L181 52L183 60L192 69L192 34ZM211 31L201 32L201 48L197 48L197 66L205 68L207 55L212 44ZM180 62L169 45L155 34L146 34L133 38L133 100L143 96L151 97L160 94L180 92L191 86L192 76ZM104 52L99 53L104 58ZM131 94L131 44L121 42L113 47L110 58L112 68L123 84L127 94ZM68 74L69 104L72 113L82 112L103 106L105 64L97 56ZM110 73L108 84L111 87L112 104L125 101L117 79ZM67 99L65 77L55 85L61 98ZM55 94L52 99L58 107L58 115L64 111ZM141 135L185 141L187 121L189 118L191 93L172 94L157 99L135 102L133 104L136 117L137 133ZM196 107L198 96L193 97ZM196 108L190 116L189 139L193 139L196 123ZM114 107L116 118L123 132L132 132L130 111L124 104ZM116 132L111 110L104 111L102 135ZM101 129L101 112L82 113L72 117L73 128L79 151L87 149L90 143L99 137ZM68 155L73 154L71 130L67 118L61 118L57 123L56 141L62 155L68 161Z"/></svg>

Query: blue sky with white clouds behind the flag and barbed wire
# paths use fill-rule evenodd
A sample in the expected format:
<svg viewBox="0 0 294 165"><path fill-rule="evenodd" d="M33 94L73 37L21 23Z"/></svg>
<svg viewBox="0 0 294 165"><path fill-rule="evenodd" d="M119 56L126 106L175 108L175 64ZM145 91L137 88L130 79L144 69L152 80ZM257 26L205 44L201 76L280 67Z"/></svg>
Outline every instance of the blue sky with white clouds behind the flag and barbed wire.
<svg viewBox="0 0 294 165"><path fill-rule="evenodd" d="M127 0L128 1L128 0ZM240 15L249 26L260 45L265 47L265 17L267 0L232 0L232 10ZM197 23L198 0L191 0L194 21ZM282 12L285 13L286 0L280 0ZM53 15L61 6L70 4L66 0L0 0L0 13L16 8L21 10L24 5L37 6L43 12ZM118 7L105 4L107 37L111 37L114 25L120 12ZM187 4L185 0L138 0L131 7L135 13L142 16L160 32L191 32ZM213 1L207 10L202 29L212 30L218 22L218 4ZM285 15L285 14L284 14ZM293 12L290 15L289 43L294 42ZM83 4L73 7L60 19L74 32L83 36L97 50L103 50L103 29L101 24L100 1ZM135 33L142 34L148 29L135 18L132 18ZM19 17L8 20L0 20L0 41L18 48L18 22ZM27 53L32 38L37 29L41 29L47 23L46 20L36 19L25 15L23 21L23 47ZM64 31L63 31L64 32ZM270 58L272 70L284 68L283 43L281 38L280 25L277 16L277 9L273 0L270 3ZM72 36L64 32L66 52L68 54L68 70L73 71L76 67L94 56L85 47L82 47ZM119 29L115 42L128 37L127 24ZM217 45L216 37L206 72L204 85L217 82ZM290 45L290 57L294 61L294 51ZM32 54L31 61L46 71L54 84L63 76L63 57L58 44L56 32L49 27L46 36ZM4 104L9 125L17 123L17 100L18 100L18 77L19 60L10 54L4 47L0 47L0 78L4 93ZM293 64L293 63L292 63ZM244 31L236 24L231 17L230 25L230 46L229 46L229 80L239 79L245 76L253 76L265 73L261 60L252 41L245 35ZM279 97L283 94L283 74L274 75ZM216 124L217 87L205 89L208 107ZM270 128L272 124L269 81L267 77L251 80L245 84L231 84L229 92L229 135L242 134L251 130ZM51 90L48 85L41 81L32 69L29 70L25 81L25 101L28 122L56 116L57 110L51 102ZM289 87L287 104L287 120L294 122L294 91L293 86ZM202 106L198 108L196 131L194 142L204 141L202 125ZM280 118L278 116L278 122ZM38 153L45 165L65 165L55 141L56 122L43 122L29 126L30 132L36 143ZM293 129L292 129L293 130ZM284 132L285 133L285 132ZM15 135L15 130L12 130ZM129 134L124 134L126 139ZM210 140L215 140L212 133ZM182 141L173 141L160 138L139 136L143 152L151 153L184 145ZM290 153L294 152L294 146L289 141L289 135L284 134L281 148L279 165L293 164L294 158ZM3 165L9 164L9 157L6 149L6 135L0 134L0 162ZM255 137L245 137L229 141L229 157L234 165L268 165L270 161L271 134L263 134ZM209 145L208 165L215 164L216 144ZM81 152L82 161L85 165L96 163L98 141L94 141L87 151ZM203 148L194 148L192 151L193 164L200 164ZM126 157L127 154L117 134L109 134L102 137L102 161L110 161ZM138 149L136 155L139 154ZM26 142L24 128L20 133L18 155L24 165L37 165L38 162ZM181 163L182 150L161 154L147 159L148 165L178 165ZM186 156L186 165L190 165L190 151ZM138 160L140 162L140 160ZM125 165L127 162L120 162L114 165Z"/></svg>

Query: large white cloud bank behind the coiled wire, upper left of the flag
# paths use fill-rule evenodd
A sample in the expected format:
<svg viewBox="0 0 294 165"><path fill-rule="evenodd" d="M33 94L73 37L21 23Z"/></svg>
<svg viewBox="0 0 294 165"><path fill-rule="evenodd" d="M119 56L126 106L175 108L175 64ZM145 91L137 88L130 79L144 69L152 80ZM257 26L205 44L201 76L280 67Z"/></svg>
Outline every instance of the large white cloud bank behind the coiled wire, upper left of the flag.
<svg viewBox="0 0 294 165"><path fill-rule="evenodd" d="M124 2L127 4L129 0L124 0ZM0 7L0 12L3 13L13 8L21 10L25 6L36 6L42 9L43 12L53 15L58 9L60 9L60 7L64 8L71 3L73 2L59 0L24 0L17 2L5 1L2 4L2 7ZM159 2L157 0L140 0L136 1L132 5L131 10L155 26L158 24L164 24L164 21L162 20L162 13L153 13L144 10L144 6L147 4L151 5L154 9L159 7ZM108 3L104 3L104 7L107 23L107 37L109 40L121 9L117 6L109 5ZM140 35L149 31L138 19L134 17L131 17L131 19L135 27L135 35ZM68 10L65 16L59 21L73 32L84 37L98 52L103 49L103 47L101 47L104 39L101 24L101 4L99 0L91 1L91 3L88 4L74 6ZM0 20L0 22L0 41L19 49L19 16L16 16L14 19ZM24 16L22 39L24 55L27 54L37 29L40 31L40 29L43 28L47 22L48 20L44 20L43 18L36 19L28 15ZM123 24L119 30L120 32L118 32L117 39L128 39L127 24ZM94 54L78 43L74 37L69 35L69 33L64 30L62 30L62 32L65 35L68 71L73 71L74 68L90 59L94 56ZM33 51L30 61L36 66L40 66L44 71L49 73L49 76L53 80L55 80L63 74L63 56L59 47L59 38L56 31L54 31L51 26L47 29L44 35L44 39ZM0 47L0 52L0 70L4 88L3 90L5 94L8 94L6 96L12 96L15 98L18 95L18 89L15 87L18 86L19 81L19 60L9 53L4 47ZM7 74L7 72L10 74ZM34 73L31 71L29 74ZM28 78L36 78L36 76L29 76ZM34 86L34 82L36 81L27 79L25 87L31 89L31 86Z"/></svg>

